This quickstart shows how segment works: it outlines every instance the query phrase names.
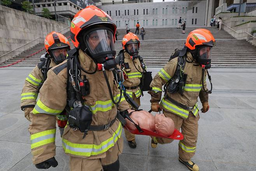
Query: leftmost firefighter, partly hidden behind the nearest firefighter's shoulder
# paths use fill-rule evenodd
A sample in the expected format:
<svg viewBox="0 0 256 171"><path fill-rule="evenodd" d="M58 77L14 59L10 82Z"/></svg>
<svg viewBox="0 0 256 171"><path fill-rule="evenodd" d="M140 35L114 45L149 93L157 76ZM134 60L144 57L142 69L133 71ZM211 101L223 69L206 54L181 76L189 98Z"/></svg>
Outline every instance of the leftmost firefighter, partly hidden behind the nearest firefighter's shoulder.
<svg viewBox="0 0 256 171"><path fill-rule="evenodd" d="M41 56L40 62L25 80L25 85L21 92L21 110L25 113L25 118L30 121L29 113L37 103L37 96L40 87L47 78L47 72L50 68L60 64L66 59L67 52L70 50L68 39L55 31L49 33L44 40L46 53ZM65 111L57 116L58 126L62 135L67 117Z"/></svg>

